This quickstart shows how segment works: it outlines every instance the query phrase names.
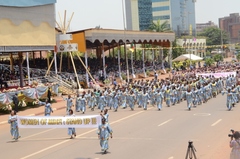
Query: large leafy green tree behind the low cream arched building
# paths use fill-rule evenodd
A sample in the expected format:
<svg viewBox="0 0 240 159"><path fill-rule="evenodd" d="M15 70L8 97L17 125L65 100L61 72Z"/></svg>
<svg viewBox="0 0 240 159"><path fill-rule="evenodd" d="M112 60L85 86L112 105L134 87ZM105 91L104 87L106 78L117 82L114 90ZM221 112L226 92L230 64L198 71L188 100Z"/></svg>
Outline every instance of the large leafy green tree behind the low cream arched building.
<svg viewBox="0 0 240 159"><path fill-rule="evenodd" d="M207 46L216 46L216 45L220 46L222 42L223 44L227 44L229 41L227 33L217 27L206 28L203 30L203 32L199 33L198 36L204 36L207 38L206 39ZM213 47L213 49L214 48L215 47Z"/></svg>

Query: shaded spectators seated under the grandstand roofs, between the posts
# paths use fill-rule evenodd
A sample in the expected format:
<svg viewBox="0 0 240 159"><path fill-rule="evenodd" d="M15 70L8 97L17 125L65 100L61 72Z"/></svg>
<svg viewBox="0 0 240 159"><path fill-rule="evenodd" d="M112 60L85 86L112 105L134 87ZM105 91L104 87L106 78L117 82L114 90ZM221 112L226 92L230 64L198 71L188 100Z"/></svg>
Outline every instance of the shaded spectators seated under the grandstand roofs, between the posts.
<svg viewBox="0 0 240 159"><path fill-rule="evenodd" d="M51 61L51 59L49 60ZM84 58L82 58L82 61L85 61ZM68 62L70 62L70 68L68 68ZM142 71L143 68L143 62L140 60L134 60L134 72L135 73L139 73ZM5 61L1 61L2 64L10 64L9 60L5 60ZM85 74L85 68L82 66L81 62L79 61L79 59L74 59L74 63L76 66L76 70L78 72L78 74ZM125 59L120 59L120 63L121 63L121 70L124 72L126 70L126 60ZM14 65L18 66L19 61L18 59L14 59ZM57 64L59 66L60 64L60 59L57 58ZM105 69L106 69L106 73L107 74L111 74L111 73L115 73L118 74L118 59L116 58L111 58L111 57L105 57ZM129 64L129 70L130 73L132 72L131 70L131 60L128 60L128 64ZM26 60L23 61L22 63L23 67L27 67L27 62ZM153 63L150 61L145 61L145 67L149 67L152 66ZM160 62L155 62L156 66L161 66ZM35 58L30 59L29 60L29 66L30 68L38 68L38 69L44 69L47 70L47 59L44 58ZM165 62L164 63L165 67L168 67L168 63ZM90 73L92 75L98 76L99 72L101 70L103 70L103 65L102 65L102 59L97 59L97 58L88 58L88 69L90 71ZM51 67L51 71L54 71L54 64ZM68 73L74 73L74 69L73 66L71 64L71 60L69 60L67 57L63 57L62 59L62 71L61 72L68 72ZM31 77L33 73L31 72ZM34 74L37 74L37 76L44 76L44 74L42 74L41 72L34 72ZM17 80L20 77L20 74L18 72L18 70L14 70L14 72L10 72L9 70L1 70L1 76L5 81L8 80ZM27 77L27 72L26 70L23 70L23 76ZM36 76L36 75L35 75Z"/></svg>

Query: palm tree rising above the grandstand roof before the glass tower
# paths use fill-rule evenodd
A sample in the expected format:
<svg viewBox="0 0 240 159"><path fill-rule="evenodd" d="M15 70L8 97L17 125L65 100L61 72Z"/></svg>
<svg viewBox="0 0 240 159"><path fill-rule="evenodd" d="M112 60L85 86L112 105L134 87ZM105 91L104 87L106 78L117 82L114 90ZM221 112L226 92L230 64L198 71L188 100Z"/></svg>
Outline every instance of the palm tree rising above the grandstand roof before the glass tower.
<svg viewBox="0 0 240 159"><path fill-rule="evenodd" d="M169 24L167 21L164 21L161 24L160 20L158 20L157 22L152 22L152 24L149 27L149 31L169 32L171 31L171 28L169 27Z"/></svg>

